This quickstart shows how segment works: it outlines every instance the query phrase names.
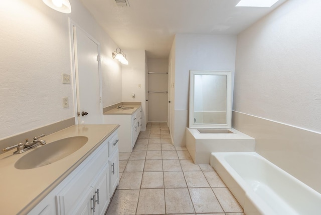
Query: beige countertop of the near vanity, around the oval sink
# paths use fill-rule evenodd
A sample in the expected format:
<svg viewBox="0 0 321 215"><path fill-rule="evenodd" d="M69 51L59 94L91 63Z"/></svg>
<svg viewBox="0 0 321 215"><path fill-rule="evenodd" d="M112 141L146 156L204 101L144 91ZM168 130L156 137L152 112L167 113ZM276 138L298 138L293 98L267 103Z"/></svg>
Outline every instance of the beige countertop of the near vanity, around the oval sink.
<svg viewBox="0 0 321 215"><path fill-rule="evenodd" d="M119 125L74 125L44 136L41 139L47 144L72 136L86 136L88 142L69 156L34 169L16 169L14 166L19 158L34 149L22 154L13 154L15 149L1 154L0 214L28 213L118 127Z"/></svg>

